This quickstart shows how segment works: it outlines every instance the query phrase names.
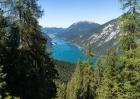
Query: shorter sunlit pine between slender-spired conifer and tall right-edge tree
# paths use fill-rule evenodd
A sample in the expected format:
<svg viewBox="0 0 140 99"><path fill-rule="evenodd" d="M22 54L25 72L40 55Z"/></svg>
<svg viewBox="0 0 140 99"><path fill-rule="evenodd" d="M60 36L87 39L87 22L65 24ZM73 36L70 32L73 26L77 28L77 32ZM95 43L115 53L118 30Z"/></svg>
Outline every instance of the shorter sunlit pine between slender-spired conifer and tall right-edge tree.
<svg viewBox="0 0 140 99"><path fill-rule="evenodd" d="M95 69L97 75L97 77L95 77L97 81L97 99L117 99L115 89L117 75L116 61L116 53L108 51L101 63L97 65Z"/></svg>

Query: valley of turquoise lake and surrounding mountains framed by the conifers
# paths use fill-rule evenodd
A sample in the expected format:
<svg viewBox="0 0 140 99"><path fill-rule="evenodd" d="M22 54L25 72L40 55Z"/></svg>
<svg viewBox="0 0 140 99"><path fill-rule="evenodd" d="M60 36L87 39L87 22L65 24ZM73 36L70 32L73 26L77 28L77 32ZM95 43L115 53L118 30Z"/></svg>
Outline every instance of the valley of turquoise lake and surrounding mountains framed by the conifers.
<svg viewBox="0 0 140 99"><path fill-rule="evenodd" d="M62 46L58 47L59 43L54 45L55 46L54 50L56 50L57 48L59 50L56 51L56 53L55 51L53 51L54 53L53 56L56 57L56 59L58 60L60 59L64 61L69 61L69 59L66 58L63 59L62 58L63 56L61 56L62 53L64 57L68 55L63 50L66 47L68 48L67 52L69 53L69 55L72 56L70 57L70 59L72 58L73 60L75 60L73 61L73 63L75 63L77 62L78 59L80 58L83 59L84 56L81 50L84 50L85 45L87 43L90 43L91 46L93 47L95 57L102 57L108 49L112 47L115 48L115 46L117 45L116 38L119 34L119 26L117 25L117 19L113 19L103 25L92 23L92 22L81 21L81 22L73 23L71 26L65 29L44 28L43 31L47 35L49 35L53 43L62 42L62 44L64 44L64 42L66 42L64 45L66 44L68 44L68 46L70 45L69 48L68 46L66 47L63 45L62 45L63 47ZM60 41L58 39L60 39ZM55 40L58 41L56 42ZM72 50L70 50L71 48ZM76 49L76 51L74 51L73 49ZM77 50L79 50L78 53ZM74 54L75 52L77 54Z"/></svg>

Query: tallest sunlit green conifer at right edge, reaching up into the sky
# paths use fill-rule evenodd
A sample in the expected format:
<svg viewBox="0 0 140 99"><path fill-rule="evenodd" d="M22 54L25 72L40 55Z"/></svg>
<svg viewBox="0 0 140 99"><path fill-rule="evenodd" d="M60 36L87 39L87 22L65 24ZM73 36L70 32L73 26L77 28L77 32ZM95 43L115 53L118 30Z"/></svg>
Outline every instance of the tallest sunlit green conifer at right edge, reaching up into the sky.
<svg viewBox="0 0 140 99"><path fill-rule="evenodd" d="M139 0L121 0L126 11L120 18L120 45L123 54L120 57L122 72L120 76L120 99L140 98L140 53L139 44Z"/></svg>

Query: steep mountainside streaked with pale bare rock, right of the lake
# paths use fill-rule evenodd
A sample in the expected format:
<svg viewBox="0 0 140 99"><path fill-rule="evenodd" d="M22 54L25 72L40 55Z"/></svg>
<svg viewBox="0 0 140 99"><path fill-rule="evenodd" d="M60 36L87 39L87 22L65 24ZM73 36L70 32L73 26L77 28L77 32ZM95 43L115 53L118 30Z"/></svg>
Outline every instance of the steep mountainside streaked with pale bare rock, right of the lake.
<svg viewBox="0 0 140 99"><path fill-rule="evenodd" d="M106 52L107 49L115 47L117 44L117 36L120 32L117 19L111 20L101 27L93 31L92 34L87 37L83 43L90 43L97 56L100 56ZM83 46L83 44L79 44Z"/></svg>

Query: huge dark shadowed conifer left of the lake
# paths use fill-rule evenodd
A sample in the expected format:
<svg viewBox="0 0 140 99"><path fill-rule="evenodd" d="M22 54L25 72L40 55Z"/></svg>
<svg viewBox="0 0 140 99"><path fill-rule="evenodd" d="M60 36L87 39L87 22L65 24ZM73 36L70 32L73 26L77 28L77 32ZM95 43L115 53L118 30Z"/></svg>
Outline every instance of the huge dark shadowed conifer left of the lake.
<svg viewBox="0 0 140 99"><path fill-rule="evenodd" d="M42 15L37 0L5 0L2 10L8 33L1 48L7 90L21 99L51 99L56 96L57 71L46 53L46 42L37 19ZM6 7L6 8L5 8ZM4 36L3 36L4 37ZM10 56L10 57L9 57Z"/></svg>

